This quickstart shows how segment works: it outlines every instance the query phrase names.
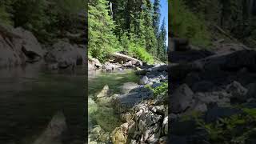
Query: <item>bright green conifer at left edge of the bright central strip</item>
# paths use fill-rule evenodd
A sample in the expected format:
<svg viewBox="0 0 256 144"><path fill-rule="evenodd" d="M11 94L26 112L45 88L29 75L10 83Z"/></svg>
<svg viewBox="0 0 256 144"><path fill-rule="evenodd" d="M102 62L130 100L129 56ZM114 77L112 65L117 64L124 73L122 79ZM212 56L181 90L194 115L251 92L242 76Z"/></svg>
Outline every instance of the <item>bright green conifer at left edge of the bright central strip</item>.
<svg viewBox="0 0 256 144"><path fill-rule="evenodd" d="M88 14L89 27L89 54L92 57L104 61L117 44L112 32L114 22L109 15L108 1L94 0L89 2Z"/></svg>

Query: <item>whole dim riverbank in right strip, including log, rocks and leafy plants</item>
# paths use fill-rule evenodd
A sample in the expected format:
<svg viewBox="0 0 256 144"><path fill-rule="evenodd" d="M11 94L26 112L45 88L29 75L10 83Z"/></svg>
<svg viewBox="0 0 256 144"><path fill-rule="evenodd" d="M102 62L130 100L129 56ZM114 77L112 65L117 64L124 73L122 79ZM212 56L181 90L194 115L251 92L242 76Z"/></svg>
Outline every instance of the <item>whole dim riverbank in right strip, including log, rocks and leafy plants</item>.
<svg viewBox="0 0 256 144"><path fill-rule="evenodd" d="M234 43L208 56L189 51L171 53L170 142L255 143L256 51Z"/></svg>

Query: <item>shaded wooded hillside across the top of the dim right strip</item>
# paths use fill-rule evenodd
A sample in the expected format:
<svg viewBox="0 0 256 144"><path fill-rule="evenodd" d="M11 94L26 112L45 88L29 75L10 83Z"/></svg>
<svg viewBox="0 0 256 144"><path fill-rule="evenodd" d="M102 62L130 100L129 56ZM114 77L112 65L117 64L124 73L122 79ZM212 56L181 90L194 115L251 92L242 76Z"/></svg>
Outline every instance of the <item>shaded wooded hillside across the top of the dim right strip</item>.
<svg viewBox="0 0 256 144"><path fill-rule="evenodd" d="M175 21L170 25L174 35L198 41L194 44L203 46L208 44L209 37L212 42L224 38L256 46L256 2L253 0L177 0L170 1L170 6L175 7L170 10L174 15L170 21ZM181 24L177 19L186 22Z"/></svg>

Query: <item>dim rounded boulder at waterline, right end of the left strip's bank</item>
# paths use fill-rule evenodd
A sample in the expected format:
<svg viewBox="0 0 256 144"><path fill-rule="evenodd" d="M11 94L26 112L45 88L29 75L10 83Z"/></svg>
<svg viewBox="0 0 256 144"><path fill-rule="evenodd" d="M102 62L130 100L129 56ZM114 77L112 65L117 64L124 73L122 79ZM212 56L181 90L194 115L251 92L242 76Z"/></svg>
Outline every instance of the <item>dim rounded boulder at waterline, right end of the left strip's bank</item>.
<svg viewBox="0 0 256 144"><path fill-rule="evenodd" d="M58 63L58 68L67 68L85 63L86 51L78 46L73 46L68 42L57 42L50 50L45 60L47 63Z"/></svg>

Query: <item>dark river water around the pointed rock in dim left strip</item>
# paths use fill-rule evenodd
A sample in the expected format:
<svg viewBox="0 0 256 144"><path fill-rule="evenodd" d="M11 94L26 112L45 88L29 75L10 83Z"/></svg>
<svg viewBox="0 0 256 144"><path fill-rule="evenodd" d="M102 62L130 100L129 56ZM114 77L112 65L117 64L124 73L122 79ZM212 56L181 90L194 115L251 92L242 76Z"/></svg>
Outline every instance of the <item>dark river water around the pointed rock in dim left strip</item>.
<svg viewBox="0 0 256 144"><path fill-rule="evenodd" d="M0 70L0 143L30 144L46 129L58 110L69 133L63 143L85 139L86 75L28 65Z"/></svg>

